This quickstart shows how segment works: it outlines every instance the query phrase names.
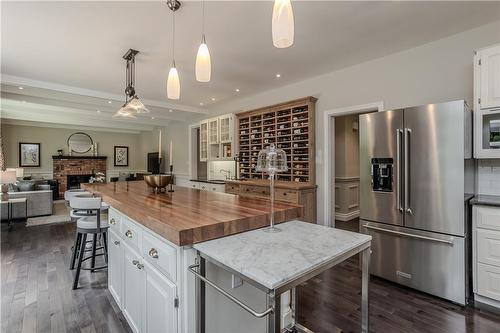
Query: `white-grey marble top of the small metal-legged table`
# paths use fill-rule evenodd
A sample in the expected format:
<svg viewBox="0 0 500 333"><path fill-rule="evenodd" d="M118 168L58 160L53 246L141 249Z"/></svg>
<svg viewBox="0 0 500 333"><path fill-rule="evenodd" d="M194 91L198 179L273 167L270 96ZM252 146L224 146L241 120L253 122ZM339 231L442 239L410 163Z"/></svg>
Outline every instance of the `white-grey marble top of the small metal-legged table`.
<svg viewBox="0 0 500 333"><path fill-rule="evenodd" d="M348 251L369 246L369 235L300 221L281 232L252 230L195 244L203 255L268 289L276 289Z"/></svg>

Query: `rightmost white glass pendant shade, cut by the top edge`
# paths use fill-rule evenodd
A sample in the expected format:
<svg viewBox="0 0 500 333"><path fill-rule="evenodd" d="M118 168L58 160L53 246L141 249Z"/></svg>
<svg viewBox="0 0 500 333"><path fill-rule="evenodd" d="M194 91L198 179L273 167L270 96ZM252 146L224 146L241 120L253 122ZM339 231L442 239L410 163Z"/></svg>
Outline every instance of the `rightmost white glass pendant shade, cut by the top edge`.
<svg viewBox="0 0 500 333"><path fill-rule="evenodd" d="M293 9L290 0L274 0L272 34L273 45L286 48L293 44Z"/></svg>

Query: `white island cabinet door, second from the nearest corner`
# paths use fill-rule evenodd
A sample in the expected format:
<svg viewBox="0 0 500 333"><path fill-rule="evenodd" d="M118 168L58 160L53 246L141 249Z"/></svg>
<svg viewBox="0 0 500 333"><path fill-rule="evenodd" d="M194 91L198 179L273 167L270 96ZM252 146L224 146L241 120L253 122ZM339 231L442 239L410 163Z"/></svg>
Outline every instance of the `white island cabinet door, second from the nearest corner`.
<svg viewBox="0 0 500 333"><path fill-rule="evenodd" d="M123 244L122 312L134 333L142 332L144 264L140 255L125 242Z"/></svg>

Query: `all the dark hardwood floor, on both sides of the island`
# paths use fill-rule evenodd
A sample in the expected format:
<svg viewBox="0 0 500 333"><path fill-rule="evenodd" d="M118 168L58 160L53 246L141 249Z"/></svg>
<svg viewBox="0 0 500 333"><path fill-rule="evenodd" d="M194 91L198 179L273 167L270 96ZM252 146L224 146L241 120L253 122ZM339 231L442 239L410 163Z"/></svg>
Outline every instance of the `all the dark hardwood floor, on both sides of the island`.
<svg viewBox="0 0 500 333"><path fill-rule="evenodd" d="M83 271L71 290L73 237L71 224L2 225L2 332L131 332L105 272ZM360 287L357 259L309 281L298 289L299 322L317 333L359 332ZM498 333L500 316L372 278L370 325L381 333Z"/></svg>

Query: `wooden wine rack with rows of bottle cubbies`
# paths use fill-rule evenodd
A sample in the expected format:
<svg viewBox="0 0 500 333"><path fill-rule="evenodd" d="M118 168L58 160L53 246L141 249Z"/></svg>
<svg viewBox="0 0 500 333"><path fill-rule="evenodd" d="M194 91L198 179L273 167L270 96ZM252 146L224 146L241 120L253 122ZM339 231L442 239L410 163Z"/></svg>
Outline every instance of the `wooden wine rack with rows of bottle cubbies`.
<svg viewBox="0 0 500 333"><path fill-rule="evenodd" d="M240 178L263 179L256 172L261 149L274 143L287 155L288 171L279 181L315 183L314 110L316 98L306 97L238 114Z"/></svg>

